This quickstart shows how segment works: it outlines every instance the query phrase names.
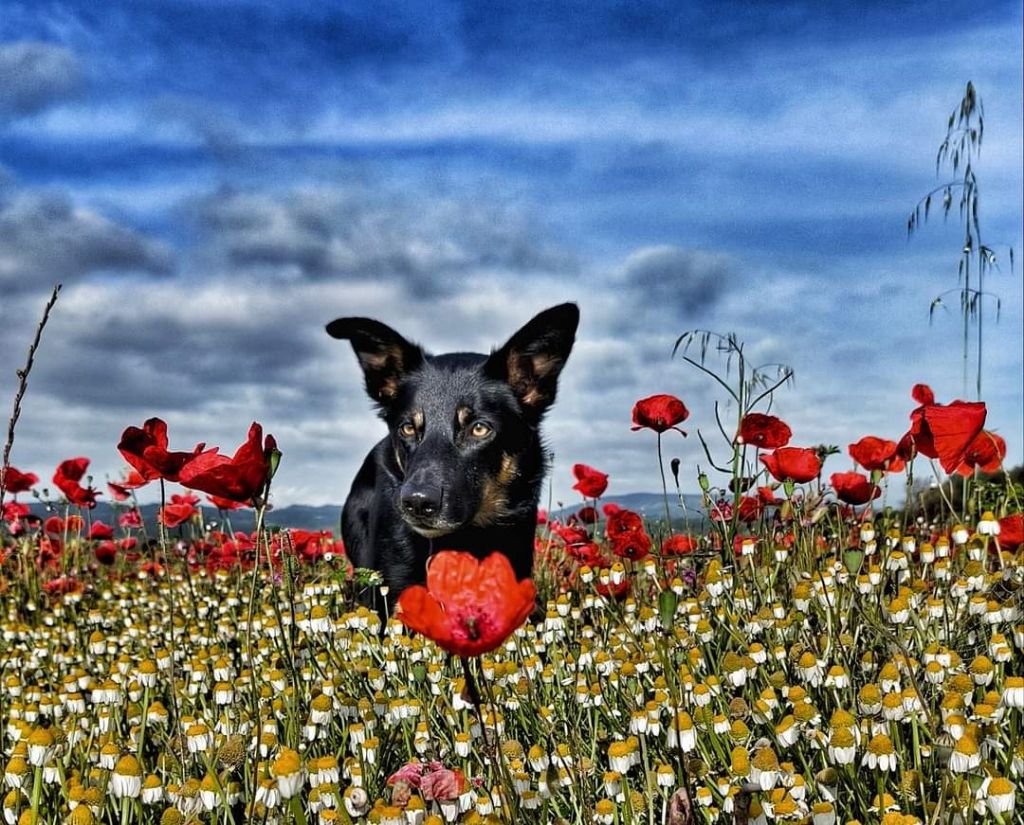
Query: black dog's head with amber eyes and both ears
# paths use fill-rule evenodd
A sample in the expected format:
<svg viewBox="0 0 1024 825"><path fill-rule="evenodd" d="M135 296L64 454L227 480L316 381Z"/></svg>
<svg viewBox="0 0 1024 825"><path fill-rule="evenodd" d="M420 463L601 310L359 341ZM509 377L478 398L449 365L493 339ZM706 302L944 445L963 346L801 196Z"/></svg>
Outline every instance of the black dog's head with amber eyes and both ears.
<svg viewBox="0 0 1024 825"><path fill-rule="evenodd" d="M538 429L579 321L575 304L552 307L490 355L429 355L370 318L328 324L328 334L351 342L387 422L400 481L395 507L414 530L438 537L536 507L544 471ZM524 486L531 501L516 494Z"/></svg>

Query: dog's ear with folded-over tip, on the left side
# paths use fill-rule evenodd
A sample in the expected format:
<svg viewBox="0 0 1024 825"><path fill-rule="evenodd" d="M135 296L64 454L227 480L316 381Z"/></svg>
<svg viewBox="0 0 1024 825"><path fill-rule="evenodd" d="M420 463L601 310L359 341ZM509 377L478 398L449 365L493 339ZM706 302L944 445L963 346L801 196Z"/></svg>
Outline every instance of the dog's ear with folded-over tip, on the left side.
<svg viewBox="0 0 1024 825"><path fill-rule="evenodd" d="M351 341L367 380L367 393L386 406L398 394L408 373L423 363L423 350L372 318L337 318L327 325L332 338Z"/></svg>

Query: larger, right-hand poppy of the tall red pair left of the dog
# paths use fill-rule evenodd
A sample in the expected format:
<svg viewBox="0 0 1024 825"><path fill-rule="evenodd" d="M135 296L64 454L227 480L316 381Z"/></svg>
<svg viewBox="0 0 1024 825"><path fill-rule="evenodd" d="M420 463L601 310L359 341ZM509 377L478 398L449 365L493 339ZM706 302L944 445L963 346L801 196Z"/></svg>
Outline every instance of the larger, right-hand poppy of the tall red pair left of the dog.
<svg viewBox="0 0 1024 825"><path fill-rule="evenodd" d="M232 502L253 502L270 477L271 457L278 449L272 435L263 440L263 428L253 422L249 437L228 459L212 449L189 460L178 474L186 487Z"/></svg>

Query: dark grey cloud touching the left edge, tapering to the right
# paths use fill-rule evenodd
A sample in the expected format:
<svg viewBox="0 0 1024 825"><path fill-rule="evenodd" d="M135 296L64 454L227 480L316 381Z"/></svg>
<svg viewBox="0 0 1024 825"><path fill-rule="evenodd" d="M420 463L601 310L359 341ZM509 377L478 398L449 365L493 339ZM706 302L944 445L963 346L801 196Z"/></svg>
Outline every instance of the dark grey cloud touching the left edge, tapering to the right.
<svg viewBox="0 0 1024 825"><path fill-rule="evenodd" d="M24 292L101 271L165 273L169 250L61 194L0 194L0 285Z"/></svg>

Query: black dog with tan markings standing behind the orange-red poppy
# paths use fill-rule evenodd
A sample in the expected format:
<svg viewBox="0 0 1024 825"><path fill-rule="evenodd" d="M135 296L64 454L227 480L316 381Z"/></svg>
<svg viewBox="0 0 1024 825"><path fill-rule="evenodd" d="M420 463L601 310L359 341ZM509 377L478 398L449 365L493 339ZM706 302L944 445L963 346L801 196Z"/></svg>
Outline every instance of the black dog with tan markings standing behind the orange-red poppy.
<svg viewBox="0 0 1024 825"><path fill-rule="evenodd" d="M541 312L489 356L428 355L370 318L338 318L389 434L362 463L342 511L355 567L379 570L388 602L422 582L439 550L495 551L530 575L547 469L541 419L575 340L580 310ZM371 595L373 600L373 595Z"/></svg>

